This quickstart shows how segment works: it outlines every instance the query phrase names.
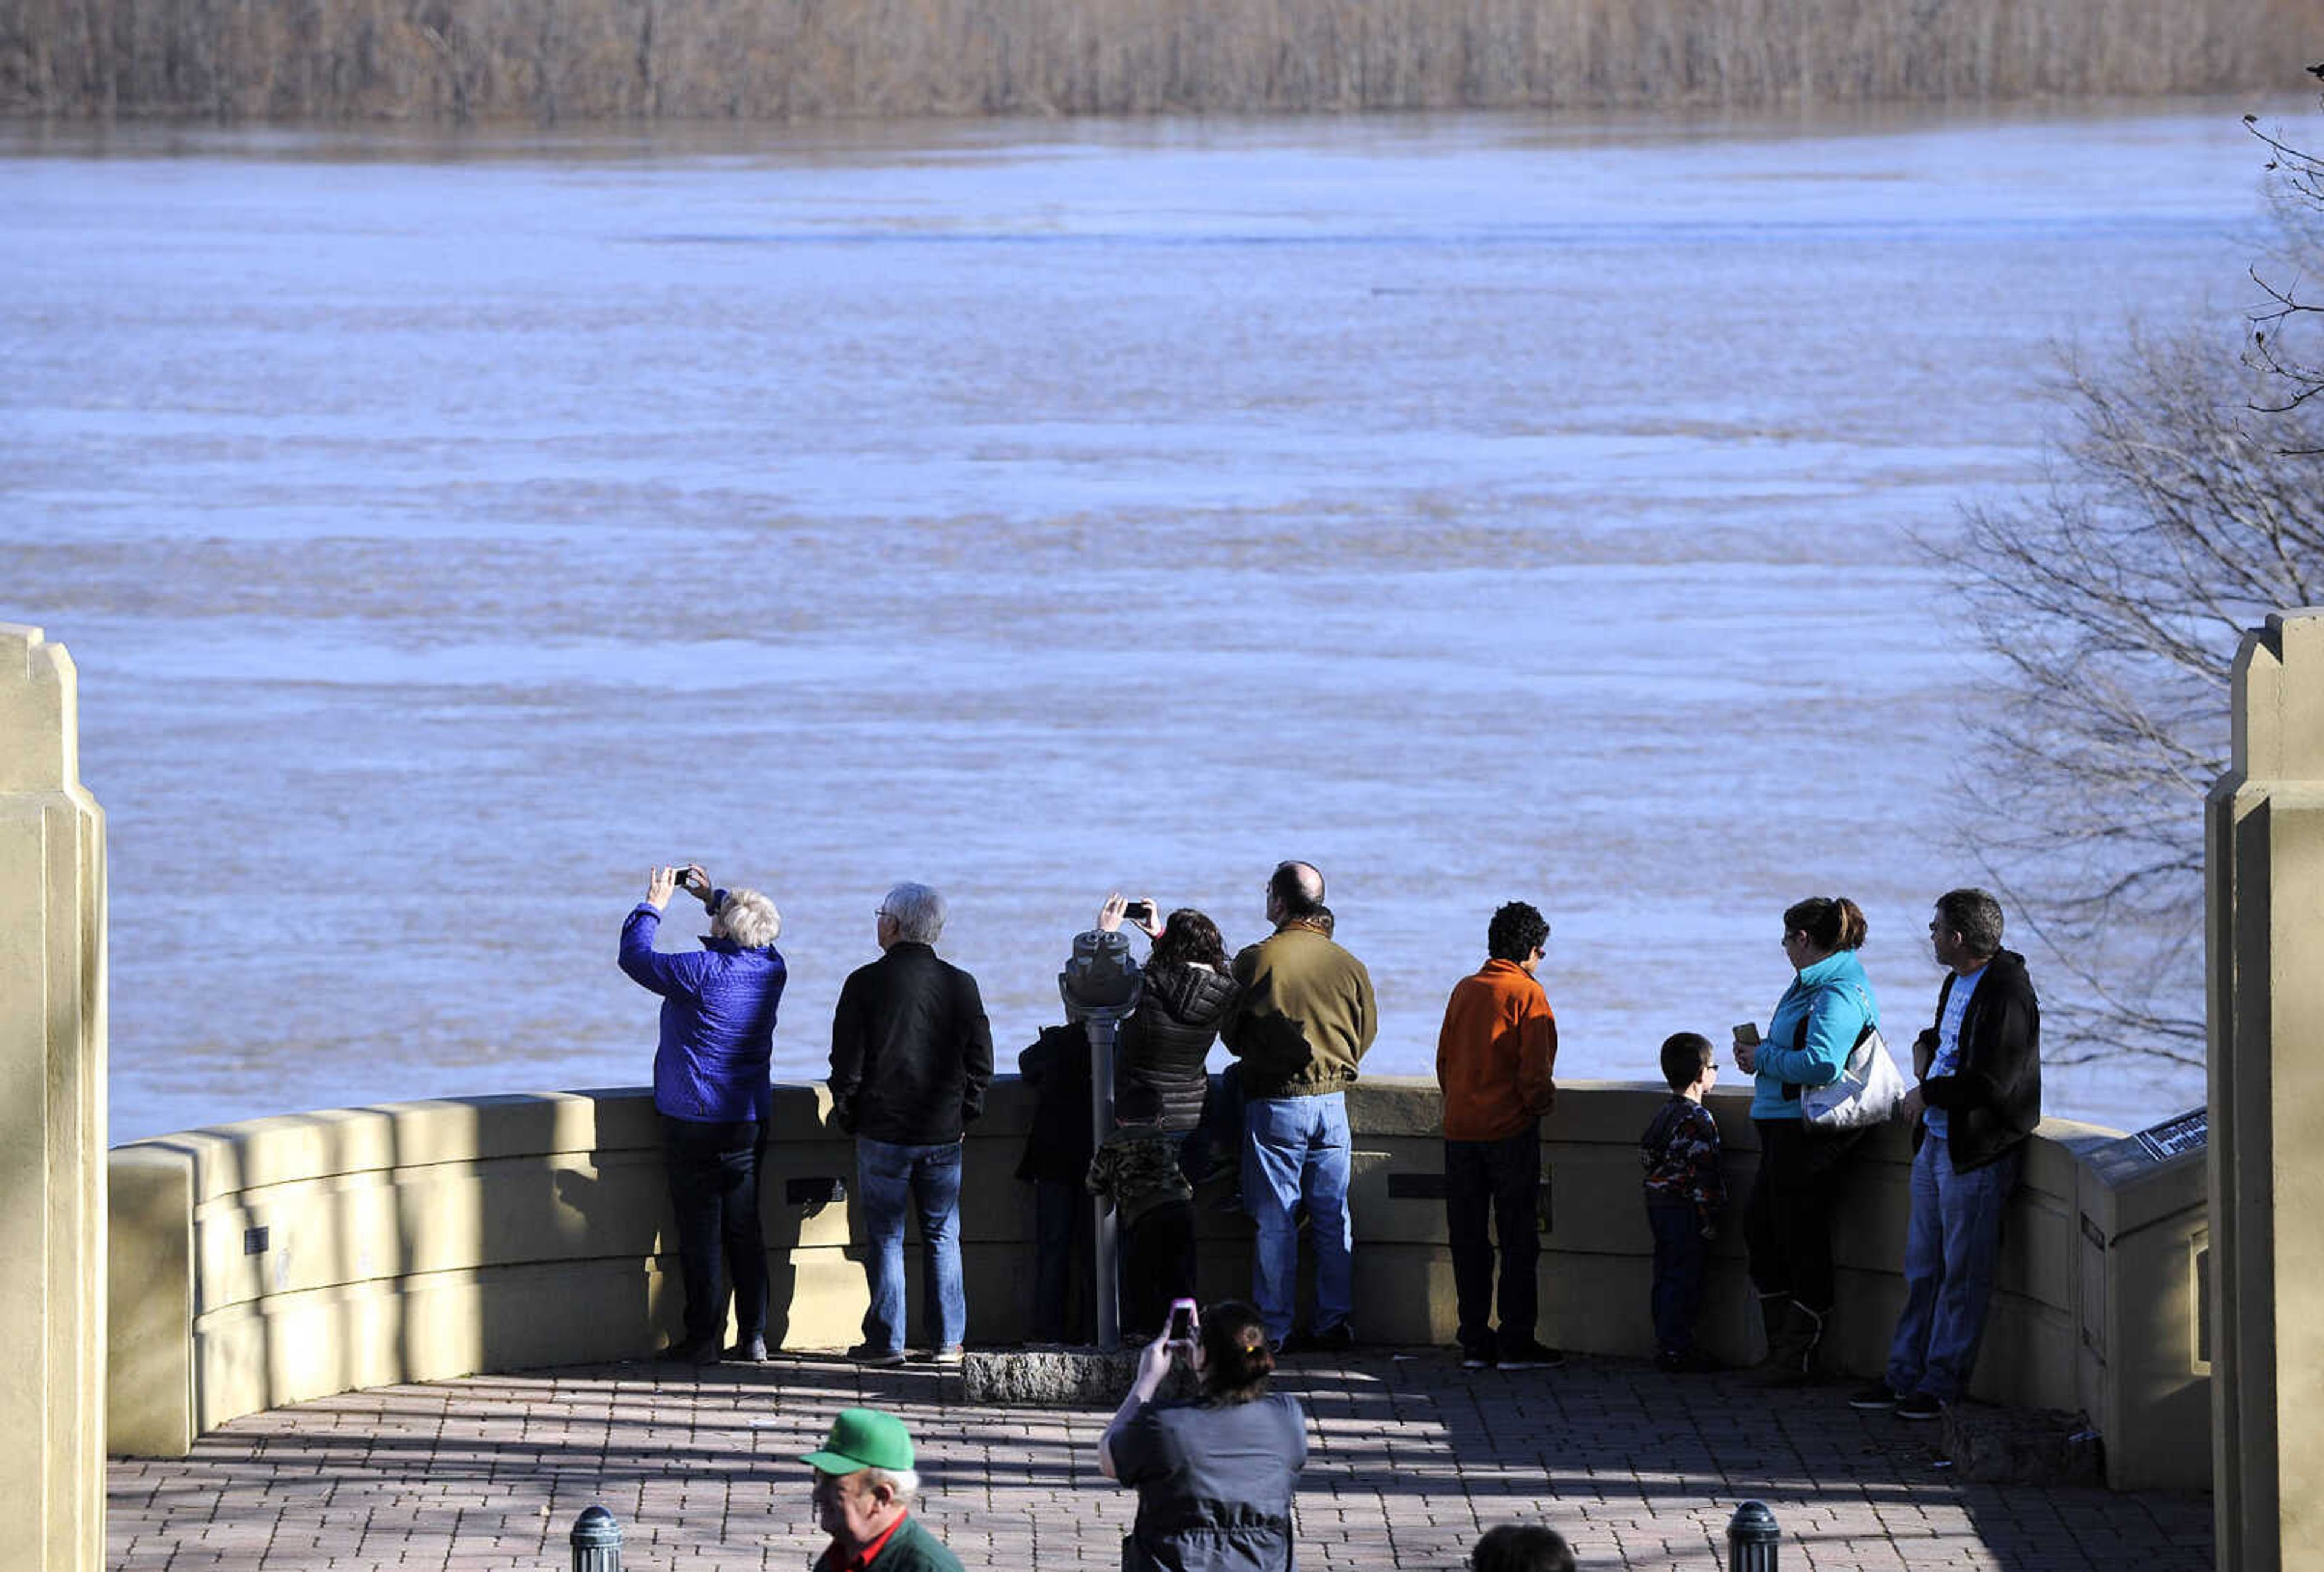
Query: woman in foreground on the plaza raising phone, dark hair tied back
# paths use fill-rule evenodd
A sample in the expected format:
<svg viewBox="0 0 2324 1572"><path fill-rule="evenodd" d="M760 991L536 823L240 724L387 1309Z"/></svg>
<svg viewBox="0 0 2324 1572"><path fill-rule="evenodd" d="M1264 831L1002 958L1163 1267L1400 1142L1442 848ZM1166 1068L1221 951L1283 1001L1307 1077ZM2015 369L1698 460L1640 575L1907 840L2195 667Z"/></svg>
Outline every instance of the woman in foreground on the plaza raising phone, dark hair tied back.
<svg viewBox="0 0 2324 1572"><path fill-rule="evenodd" d="M1139 1493L1122 1572L1287 1572L1306 1409L1267 1391L1267 1323L1227 1300L1202 1312L1192 1339L1171 1342L1171 1330L1139 1353L1136 1381L1097 1439L1097 1467ZM1202 1379L1202 1398L1155 1402L1174 1360Z"/></svg>

